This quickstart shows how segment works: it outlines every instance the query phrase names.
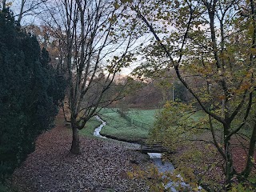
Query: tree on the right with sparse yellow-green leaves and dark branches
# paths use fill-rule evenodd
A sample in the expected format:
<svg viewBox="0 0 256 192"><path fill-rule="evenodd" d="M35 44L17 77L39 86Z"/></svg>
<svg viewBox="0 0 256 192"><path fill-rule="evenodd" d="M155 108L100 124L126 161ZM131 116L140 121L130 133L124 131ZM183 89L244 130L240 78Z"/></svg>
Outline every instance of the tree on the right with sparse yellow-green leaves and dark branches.
<svg viewBox="0 0 256 192"><path fill-rule="evenodd" d="M211 134L208 142L215 146L223 160L222 170L226 177L223 188L230 189L234 178L247 178L254 166L256 142L255 2L165 0L116 3L136 14L152 34L152 43L146 49L146 59L150 61L146 72L164 74L174 68L179 81L205 113L207 121L203 118L202 123L204 130ZM145 73L145 68L139 70ZM200 82L200 86L194 86L195 82ZM182 115L167 114L170 120ZM181 127L186 126L182 123ZM166 129L166 135L175 134L176 129L172 133L167 127L162 127ZM193 133L195 128L191 126L186 130ZM246 150L246 166L238 171L232 156L236 145L233 141L242 139L246 129L250 130L246 134L246 145L240 143ZM160 134L159 131L155 133ZM186 134L182 136L186 139Z"/></svg>

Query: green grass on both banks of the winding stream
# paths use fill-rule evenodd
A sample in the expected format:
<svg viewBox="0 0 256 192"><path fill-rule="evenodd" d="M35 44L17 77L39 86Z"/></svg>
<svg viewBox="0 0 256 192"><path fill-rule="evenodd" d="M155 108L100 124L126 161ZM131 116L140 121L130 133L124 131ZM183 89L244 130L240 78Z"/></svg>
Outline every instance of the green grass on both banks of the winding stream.
<svg viewBox="0 0 256 192"><path fill-rule="evenodd" d="M99 112L99 116L106 121L106 126L102 128L101 134L116 138L122 141L138 142L141 138L147 138L150 128L154 124L154 114L156 110L129 110L126 115L134 121L142 122L144 125L135 126L133 123L128 122L118 114L117 109L103 109ZM99 126L96 118L90 119L86 128L81 130L80 133L86 136L94 134L94 128Z"/></svg>

